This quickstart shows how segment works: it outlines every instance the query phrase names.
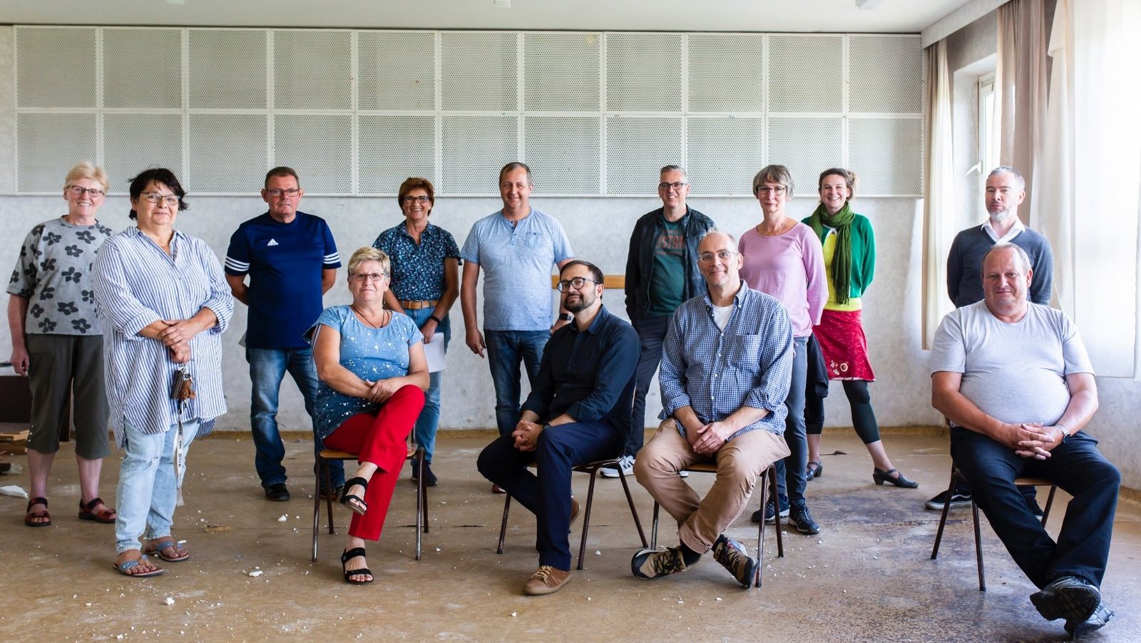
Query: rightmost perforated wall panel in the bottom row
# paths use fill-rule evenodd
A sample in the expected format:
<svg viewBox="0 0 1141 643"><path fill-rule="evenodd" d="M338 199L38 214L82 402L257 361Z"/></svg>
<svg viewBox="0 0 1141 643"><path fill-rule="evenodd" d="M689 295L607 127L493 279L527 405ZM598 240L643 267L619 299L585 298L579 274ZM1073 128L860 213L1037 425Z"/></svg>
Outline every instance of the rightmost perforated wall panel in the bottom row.
<svg viewBox="0 0 1141 643"><path fill-rule="evenodd" d="M922 194L922 119L850 119L848 140L860 194Z"/></svg>

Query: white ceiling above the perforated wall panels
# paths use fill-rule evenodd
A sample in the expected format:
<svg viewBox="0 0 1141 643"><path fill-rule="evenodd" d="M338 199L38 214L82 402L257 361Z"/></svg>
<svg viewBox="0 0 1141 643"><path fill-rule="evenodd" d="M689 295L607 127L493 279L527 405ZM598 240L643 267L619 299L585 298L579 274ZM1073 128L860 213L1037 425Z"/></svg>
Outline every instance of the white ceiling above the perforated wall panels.
<svg viewBox="0 0 1141 643"><path fill-rule="evenodd" d="M969 1L3 0L0 24L919 33Z"/></svg>

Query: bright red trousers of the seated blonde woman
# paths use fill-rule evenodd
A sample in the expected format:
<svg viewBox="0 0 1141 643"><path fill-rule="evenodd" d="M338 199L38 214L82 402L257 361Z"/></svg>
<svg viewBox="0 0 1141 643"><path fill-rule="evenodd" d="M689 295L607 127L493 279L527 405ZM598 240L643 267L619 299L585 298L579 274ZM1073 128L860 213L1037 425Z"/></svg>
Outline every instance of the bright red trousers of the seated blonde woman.
<svg viewBox="0 0 1141 643"><path fill-rule="evenodd" d="M353 514L349 536L380 539L396 481L408 456L408 433L423 407L424 393L420 387L402 386L379 409L350 417L325 437L325 447L356 453L357 461L377 465L377 473L364 492L369 511L363 515Z"/></svg>

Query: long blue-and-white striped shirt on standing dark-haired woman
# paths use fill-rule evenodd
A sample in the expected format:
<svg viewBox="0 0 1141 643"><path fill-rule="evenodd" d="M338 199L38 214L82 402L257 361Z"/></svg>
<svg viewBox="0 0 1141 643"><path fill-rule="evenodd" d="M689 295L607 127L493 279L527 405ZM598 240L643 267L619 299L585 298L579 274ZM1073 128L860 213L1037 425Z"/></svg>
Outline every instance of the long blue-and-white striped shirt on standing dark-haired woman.
<svg viewBox="0 0 1141 643"><path fill-rule="evenodd" d="M183 420L203 420L226 412L221 381L221 333L234 314L234 297L218 257L205 241L175 231L167 255L139 228L108 239L95 258L91 282L103 325L103 368L111 405L111 427L122 447L124 420L147 434L163 433L177 419L170 387L177 364L159 339L138 332L159 320L185 320L202 308L218 318L213 328L191 339L196 397Z"/></svg>

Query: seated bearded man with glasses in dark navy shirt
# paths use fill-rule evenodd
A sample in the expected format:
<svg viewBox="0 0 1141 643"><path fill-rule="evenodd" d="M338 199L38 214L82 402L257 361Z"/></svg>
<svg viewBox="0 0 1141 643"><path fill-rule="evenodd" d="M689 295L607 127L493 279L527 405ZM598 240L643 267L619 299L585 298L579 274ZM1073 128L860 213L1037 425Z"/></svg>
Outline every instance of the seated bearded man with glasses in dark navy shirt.
<svg viewBox="0 0 1141 643"><path fill-rule="evenodd" d="M638 363L638 335L602 306L602 272L572 260L563 266L563 306L574 320L543 349L539 377L518 423L479 453L479 473L535 514L539 569L523 586L552 594L570 580L567 532L578 514L570 469L622 452ZM536 473L527 466L536 465Z"/></svg>

